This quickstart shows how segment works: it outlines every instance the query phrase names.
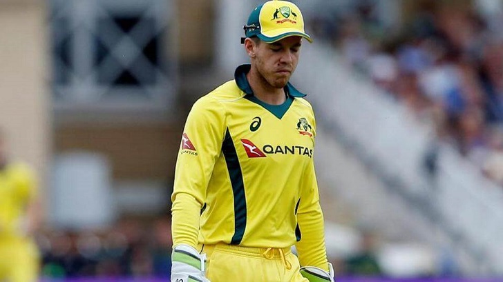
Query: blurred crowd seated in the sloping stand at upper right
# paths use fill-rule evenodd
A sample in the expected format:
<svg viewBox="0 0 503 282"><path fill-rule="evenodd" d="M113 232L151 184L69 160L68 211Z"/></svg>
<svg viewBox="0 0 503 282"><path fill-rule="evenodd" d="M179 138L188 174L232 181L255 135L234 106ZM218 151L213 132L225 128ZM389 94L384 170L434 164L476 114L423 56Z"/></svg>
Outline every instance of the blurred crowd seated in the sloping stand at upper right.
<svg viewBox="0 0 503 282"><path fill-rule="evenodd" d="M473 3L418 3L399 30L379 22L372 1L330 21L314 19L314 30L503 185L503 15L481 14Z"/></svg>

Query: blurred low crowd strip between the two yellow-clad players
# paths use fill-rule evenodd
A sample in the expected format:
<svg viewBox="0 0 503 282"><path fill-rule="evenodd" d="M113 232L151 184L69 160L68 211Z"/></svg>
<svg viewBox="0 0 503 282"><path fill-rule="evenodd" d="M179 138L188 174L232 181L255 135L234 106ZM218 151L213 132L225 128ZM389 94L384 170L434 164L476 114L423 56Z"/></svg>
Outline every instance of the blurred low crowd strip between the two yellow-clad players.
<svg viewBox="0 0 503 282"><path fill-rule="evenodd" d="M169 279L169 216L124 219L106 230L44 230L36 236L45 277L158 277Z"/></svg>

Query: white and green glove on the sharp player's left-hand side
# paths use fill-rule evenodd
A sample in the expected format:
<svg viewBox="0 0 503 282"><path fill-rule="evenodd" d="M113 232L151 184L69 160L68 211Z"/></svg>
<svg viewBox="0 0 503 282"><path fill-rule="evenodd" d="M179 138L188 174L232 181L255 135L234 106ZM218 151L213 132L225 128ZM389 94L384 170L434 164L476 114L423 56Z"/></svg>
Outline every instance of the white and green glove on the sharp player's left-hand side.
<svg viewBox="0 0 503 282"><path fill-rule="evenodd" d="M206 254L182 244L173 249L171 261L171 282L210 282L205 277Z"/></svg>

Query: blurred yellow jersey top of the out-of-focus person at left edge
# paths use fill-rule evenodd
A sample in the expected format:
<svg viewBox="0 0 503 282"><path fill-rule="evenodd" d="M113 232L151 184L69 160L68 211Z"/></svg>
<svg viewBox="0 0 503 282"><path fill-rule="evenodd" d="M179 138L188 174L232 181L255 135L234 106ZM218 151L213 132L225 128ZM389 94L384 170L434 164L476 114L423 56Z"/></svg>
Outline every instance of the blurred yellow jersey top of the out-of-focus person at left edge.
<svg viewBox="0 0 503 282"><path fill-rule="evenodd" d="M26 165L9 163L0 168L0 239L18 236L19 221L35 193L35 177Z"/></svg>

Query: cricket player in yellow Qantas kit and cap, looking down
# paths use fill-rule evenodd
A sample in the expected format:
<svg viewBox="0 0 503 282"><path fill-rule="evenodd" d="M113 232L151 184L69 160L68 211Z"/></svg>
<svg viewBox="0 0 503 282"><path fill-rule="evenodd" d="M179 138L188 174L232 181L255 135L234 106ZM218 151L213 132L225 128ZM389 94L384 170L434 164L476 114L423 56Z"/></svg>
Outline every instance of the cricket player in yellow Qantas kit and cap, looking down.
<svg viewBox="0 0 503 282"><path fill-rule="evenodd" d="M187 117L172 195L171 281L334 281L314 113L289 83L301 45L312 41L301 10L267 1L250 14L245 36L250 64Z"/></svg>

